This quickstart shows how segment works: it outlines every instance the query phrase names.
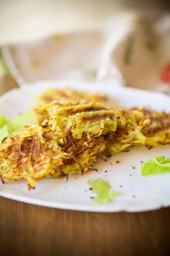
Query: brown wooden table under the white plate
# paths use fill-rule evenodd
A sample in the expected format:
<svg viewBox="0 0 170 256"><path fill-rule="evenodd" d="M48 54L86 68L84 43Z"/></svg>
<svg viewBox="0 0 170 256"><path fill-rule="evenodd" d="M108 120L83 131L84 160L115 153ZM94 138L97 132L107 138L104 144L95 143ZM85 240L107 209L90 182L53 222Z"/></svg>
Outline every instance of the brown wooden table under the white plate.
<svg viewBox="0 0 170 256"><path fill-rule="evenodd" d="M1 93L16 86L0 79ZM170 208L76 212L0 197L0 256L160 256L170 255L169 241Z"/></svg>

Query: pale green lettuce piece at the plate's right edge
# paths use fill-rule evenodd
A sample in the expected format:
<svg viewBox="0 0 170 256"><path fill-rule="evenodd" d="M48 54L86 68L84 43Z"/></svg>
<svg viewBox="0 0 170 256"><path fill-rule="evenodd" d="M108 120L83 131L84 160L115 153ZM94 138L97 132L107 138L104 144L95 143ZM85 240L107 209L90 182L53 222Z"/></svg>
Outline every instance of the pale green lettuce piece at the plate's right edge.
<svg viewBox="0 0 170 256"><path fill-rule="evenodd" d="M152 157L149 162L142 163L141 167L142 176L167 171L170 171L170 158L165 159L164 156Z"/></svg>

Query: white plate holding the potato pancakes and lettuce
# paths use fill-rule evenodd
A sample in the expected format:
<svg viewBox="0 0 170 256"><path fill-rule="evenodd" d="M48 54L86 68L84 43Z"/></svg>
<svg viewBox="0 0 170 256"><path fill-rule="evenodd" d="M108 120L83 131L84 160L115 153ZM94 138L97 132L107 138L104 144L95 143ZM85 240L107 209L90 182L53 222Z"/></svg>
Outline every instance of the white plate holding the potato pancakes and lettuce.
<svg viewBox="0 0 170 256"><path fill-rule="evenodd" d="M0 99L0 112L11 118L26 111L33 103L31 98L46 86L63 88L70 86L88 92L104 92L112 97L112 103L117 106L131 108L144 106L154 110L170 111L170 98L159 93L153 93L130 88L121 88L116 82L107 81L99 84L82 82L39 82L23 86L3 95ZM139 212L170 206L170 172L142 177L141 161L150 157L164 155L170 157L170 145L158 146L152 150L145 147L132 148L128 153L119 153L108 159L108 162L98 160L93 166L98 172L87 172L83 176L72 175L68 182L43 179L36 183L36 189L29 191L26 180L6 180L0 183L0 195L18 201L38 204L61 209L74 209L92 212ZM119 164L116 164L119 160ZM133 169L132 166L136 168ZM107 172L106 172L107 171ZM121 195L108 204L95 204L91 197L95 196L87 185L90 178L108 181L113 190Z"/></svg>

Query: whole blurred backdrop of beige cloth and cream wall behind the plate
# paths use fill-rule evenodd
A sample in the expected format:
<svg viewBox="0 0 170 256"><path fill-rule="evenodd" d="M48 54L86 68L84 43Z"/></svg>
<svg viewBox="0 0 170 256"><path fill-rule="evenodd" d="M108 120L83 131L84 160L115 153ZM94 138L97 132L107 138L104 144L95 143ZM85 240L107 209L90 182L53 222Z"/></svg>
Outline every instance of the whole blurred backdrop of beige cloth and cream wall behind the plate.
<svg viewBox="0 0 170 256"><path fill-rule="evenodd" d="M168 0L0 0L0 94L49 79L160 90L169 10Z"/></svg>

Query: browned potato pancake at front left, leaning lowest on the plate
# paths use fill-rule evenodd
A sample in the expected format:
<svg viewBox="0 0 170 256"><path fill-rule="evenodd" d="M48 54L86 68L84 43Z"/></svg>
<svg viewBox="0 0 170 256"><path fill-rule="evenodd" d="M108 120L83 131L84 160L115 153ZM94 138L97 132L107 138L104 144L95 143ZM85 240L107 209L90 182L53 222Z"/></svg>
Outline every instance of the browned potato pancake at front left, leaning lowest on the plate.
<svg viewBox="0 0 170 256"><path fill-rule="evenodd" d="M68 135L65 136L65 140ZM102 141L73 140L58 145L58 136L49 128L30 125L9 137L0 146L0 175L5 178L28 180L29 188L43 177L61 178L74 172L81 174L91 169L106 148ZM63 148L62 148L63 147Z"/></svg>

